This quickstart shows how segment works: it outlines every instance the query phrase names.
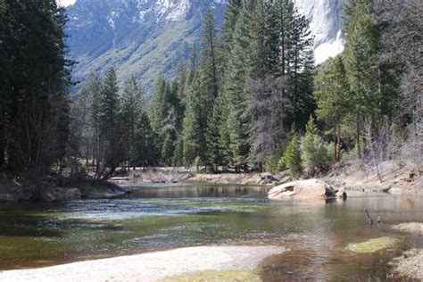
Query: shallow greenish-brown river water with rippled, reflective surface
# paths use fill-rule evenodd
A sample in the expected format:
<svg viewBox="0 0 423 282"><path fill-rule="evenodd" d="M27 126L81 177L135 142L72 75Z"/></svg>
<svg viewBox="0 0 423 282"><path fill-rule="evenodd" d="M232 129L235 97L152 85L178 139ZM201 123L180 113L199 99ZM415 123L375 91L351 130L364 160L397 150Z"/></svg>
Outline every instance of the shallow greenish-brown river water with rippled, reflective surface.
<svg viewBox="0 0 423 282"><path fill-rule="evenodd" d="M423 197L356 193L346 201L269 201L262 187L127 187L129 196L69 203L0 205L0 270L23 269L192 245L283 245L261 263L265 281L386 280L390 261L423 236L393 232L423 220ZM369 226L364 208L382 223ZM394 236L374 254L349 243Z"/></svg>

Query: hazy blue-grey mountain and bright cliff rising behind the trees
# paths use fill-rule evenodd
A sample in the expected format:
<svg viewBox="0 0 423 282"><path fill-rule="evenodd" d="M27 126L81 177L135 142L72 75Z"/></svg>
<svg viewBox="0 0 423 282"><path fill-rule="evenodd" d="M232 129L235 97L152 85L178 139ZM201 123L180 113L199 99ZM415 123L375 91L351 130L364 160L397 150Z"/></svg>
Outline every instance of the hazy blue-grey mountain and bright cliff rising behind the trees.
<svg viewBox="0 0 423 282"><path fill-rule="evenodd" d="M203 14L211 8L218 26L227 0L77 0L68 7L66 26L73 71L82 80L90 70L118 70L120 81L133 74L151 92L158 75L172 78L201 38ZM317 62L343 48L340 37L344 0L296 0L311 19Z"/></svg>

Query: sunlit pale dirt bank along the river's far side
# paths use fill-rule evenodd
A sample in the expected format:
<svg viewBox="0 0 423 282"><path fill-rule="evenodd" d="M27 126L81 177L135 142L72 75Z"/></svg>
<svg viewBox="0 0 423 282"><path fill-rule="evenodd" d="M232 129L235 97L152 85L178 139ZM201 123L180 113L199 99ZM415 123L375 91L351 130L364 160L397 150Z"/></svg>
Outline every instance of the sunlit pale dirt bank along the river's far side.
<svg viewBox="0 0 423 282"><path fill-rule="evenodd" d="M410 164L398 165L394 161L382 162L377 166L365 165L361 161L344 162L320 180L336 188L364 190L369 192L423 193L423 172ZM310 177L303 177L306 179ZM288 171L270 173L196 173L184 168L149 168L121 171L112 178L116 184L147 184L202 182L215 184L260 185L275 187L295 180Z"/></svg>

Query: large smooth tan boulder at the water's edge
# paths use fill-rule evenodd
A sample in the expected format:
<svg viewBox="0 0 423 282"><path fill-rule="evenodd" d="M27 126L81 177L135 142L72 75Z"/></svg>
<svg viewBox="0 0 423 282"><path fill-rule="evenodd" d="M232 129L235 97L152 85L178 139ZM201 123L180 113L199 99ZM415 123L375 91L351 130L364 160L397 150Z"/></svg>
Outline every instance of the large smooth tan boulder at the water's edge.
<svg viewBox="0 0 423 282"><path fill-rule="evenodd" d="M286 198L297 199L328 199L336 197L337 189L319 179L307 179L288 182L270 189L268 197L271 200Z"/></svg>

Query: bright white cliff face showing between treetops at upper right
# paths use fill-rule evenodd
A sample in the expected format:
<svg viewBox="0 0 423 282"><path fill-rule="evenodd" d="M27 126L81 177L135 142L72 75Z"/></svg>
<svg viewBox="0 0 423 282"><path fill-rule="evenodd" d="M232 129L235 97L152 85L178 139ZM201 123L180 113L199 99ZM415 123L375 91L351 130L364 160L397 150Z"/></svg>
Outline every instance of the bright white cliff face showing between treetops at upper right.
<svg viewBox="0 0 423 282"><path fill-rule="evenodd" d="M316 63L344 50L341 37L345 0L294 0L298 12L311 21Z"/></svg>

